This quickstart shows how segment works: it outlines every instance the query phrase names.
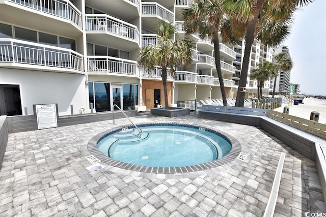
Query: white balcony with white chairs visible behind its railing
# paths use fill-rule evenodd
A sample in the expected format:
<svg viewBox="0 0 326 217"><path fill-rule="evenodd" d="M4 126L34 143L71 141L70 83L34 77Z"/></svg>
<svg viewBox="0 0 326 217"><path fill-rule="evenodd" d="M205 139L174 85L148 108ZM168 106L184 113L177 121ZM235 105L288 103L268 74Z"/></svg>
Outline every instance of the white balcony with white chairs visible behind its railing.
<svg viewBox="0 0 326 217"><path fill-rule="evenodd" d="M86 14L86 30L90 42L126 51L140 47L137 26L106 14Z"/></svg>

